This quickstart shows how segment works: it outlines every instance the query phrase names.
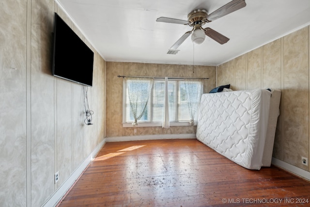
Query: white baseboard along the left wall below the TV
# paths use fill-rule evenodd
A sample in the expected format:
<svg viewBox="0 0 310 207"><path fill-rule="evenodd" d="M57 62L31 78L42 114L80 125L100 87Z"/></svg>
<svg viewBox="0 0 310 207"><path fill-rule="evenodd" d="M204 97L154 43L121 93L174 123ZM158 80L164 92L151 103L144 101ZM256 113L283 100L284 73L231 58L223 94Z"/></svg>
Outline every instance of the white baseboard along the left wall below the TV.
<svg viewBox="0 0 310 207"><path fill-rule="evenodd" d="M66 194L66 192L72 187L78 177L83 173L88 164L97 155L101 147L106 143L104 139L100 144L98 144L93 152L78 166L78 168L62 183L62 185L52 194L52 196L47 200L43 207L55 207Z"/></svg>

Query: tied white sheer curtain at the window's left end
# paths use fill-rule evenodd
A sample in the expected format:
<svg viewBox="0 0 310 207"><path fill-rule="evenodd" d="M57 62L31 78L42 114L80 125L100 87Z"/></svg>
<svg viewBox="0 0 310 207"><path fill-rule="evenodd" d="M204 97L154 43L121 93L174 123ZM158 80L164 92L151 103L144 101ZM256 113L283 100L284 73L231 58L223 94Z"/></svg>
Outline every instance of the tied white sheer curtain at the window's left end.
<svg viewBox="0 0 310 207"><path fill-rule="evenodd" d="M134 117L133 126L138 125L138 120L140 120L147 108L153 82L153 79L141 78L127 78L126 80L130 110Z"/></svg>

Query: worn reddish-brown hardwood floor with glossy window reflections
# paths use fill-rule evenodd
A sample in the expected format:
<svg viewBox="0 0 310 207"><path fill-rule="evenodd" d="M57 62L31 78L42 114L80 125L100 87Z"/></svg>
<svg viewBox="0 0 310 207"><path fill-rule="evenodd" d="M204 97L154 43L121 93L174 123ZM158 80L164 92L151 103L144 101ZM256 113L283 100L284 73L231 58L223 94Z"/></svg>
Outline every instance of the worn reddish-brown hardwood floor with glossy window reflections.
<svg viewBox="0 0 310 207"><path fill-rule="evenodd" d="M196 139L106 143L59 207L310 206L310 182Z"/></svg>

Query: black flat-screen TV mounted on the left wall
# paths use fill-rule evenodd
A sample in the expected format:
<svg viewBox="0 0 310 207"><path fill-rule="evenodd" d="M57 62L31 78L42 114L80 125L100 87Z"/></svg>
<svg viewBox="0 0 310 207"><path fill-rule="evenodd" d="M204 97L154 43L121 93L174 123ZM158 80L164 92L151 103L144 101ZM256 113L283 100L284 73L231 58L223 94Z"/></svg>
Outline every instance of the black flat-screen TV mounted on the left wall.
<svg viewBox="0 0 310 207"><path fill-rule="evenodd" d="M57 13L54 15L52 74L93 86L93 51Z"/></svg>

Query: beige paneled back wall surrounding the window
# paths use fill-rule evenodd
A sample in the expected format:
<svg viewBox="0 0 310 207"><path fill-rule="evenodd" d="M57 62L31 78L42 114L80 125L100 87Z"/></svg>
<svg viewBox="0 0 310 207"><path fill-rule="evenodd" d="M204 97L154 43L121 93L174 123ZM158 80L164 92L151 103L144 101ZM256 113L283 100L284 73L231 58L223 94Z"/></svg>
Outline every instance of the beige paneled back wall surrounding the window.
<svg viewBox="0 0 310 207"><path fill-rule="evenodd" d="M191 77L209 78L204 81L204 93L216 85L215 66L193 66L177 64L147 64L107 62L107 113L106 136L121 137L155 134L189 134L196 133L196 127L123 127L123 79L117 76L154 76L154 77Z"/></svg>

